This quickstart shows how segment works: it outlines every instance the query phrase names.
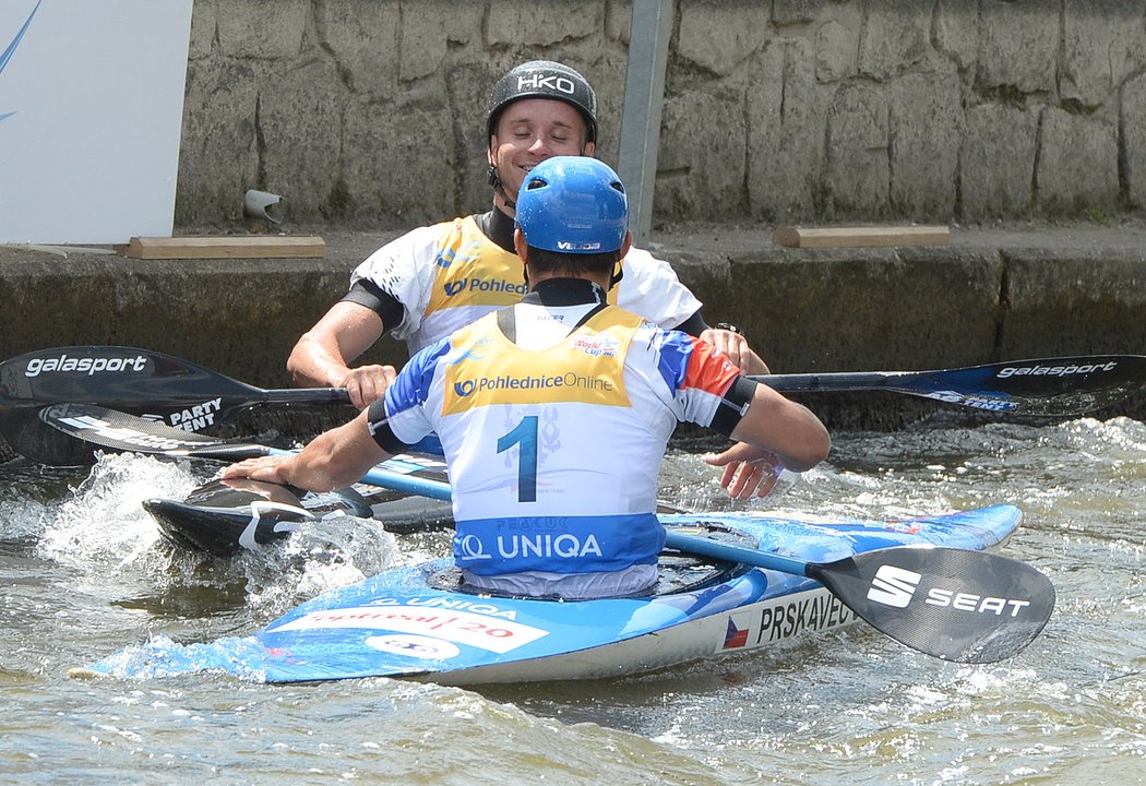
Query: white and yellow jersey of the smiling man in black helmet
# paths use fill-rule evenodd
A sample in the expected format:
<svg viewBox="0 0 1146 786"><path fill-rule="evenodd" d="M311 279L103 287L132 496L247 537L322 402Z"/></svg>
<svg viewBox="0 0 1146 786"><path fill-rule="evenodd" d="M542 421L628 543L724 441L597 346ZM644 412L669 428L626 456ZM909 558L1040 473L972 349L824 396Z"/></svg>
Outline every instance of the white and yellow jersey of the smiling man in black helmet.
<svg viewBox="0 0 1146 786"><path fill-rule="evenodd" d="M623 277L610 302L675 328L700 301L665 261L634 249L621 262ZM423 227L370 254L351 276L393 296L406 315L393 335L410 354L526 293L521 261L490 241L470 215ZM388 328L390 325L387 325Z"/></svg>

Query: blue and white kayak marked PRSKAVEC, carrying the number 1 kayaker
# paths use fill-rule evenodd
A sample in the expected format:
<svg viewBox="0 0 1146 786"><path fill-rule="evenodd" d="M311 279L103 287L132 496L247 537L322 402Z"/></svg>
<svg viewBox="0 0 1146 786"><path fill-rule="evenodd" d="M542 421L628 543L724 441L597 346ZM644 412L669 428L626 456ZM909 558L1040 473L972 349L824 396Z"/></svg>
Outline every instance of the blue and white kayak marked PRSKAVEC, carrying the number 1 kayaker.
<svg viewBox="0 0 1146 786"><path fill-rule="evenodd" d="M681 541L699 536L814 563L889 549L924 551L895 547L982 551L1000 545L1020 519L1012 505L886 522L753 513L661 516L670 544L676 535L683 535ZM902 597L906 605L913 585L903 575L913 574L885 571L871 580L873 589L865 587L868 598L881 598L890 607ZM956 615L976 619L1018 615L1026 604L995 595L999 597L932 589L926 603L942 600ZM83 671L147 678L210 670L270 683L379 676L466 685L586 679L759 650L857 619L838 592L798 571L712 561L673 549L662 557L653 594L586 602L469 592L450 560L439 559L324 594L252 636L188 645L156 639ZM1042 622L1023 635L1033 638Z"/></svg>

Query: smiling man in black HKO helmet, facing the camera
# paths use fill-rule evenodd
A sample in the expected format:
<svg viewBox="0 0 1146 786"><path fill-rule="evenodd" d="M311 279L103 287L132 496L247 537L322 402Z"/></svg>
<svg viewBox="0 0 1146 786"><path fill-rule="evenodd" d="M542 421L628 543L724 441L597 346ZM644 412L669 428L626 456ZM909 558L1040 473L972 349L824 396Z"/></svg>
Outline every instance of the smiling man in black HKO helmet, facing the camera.
<svg viewBox="0 0 1146 786"><path fill-rule="evenodd" d="M410 354L524 294L513 251L513 217L521 180L554 156L594 156L597 96L574 69L552 61L523 63L494 85L486 115L493 206L421 227L384 245L351 275L348 293L298 340L288 369L303 386L346 387L360 409L393 380L392 366L351 364L382 336ZM744 336L711 328L700 301L665 261L649 252L625 256L625 277L611 301L662 328L705 338L745 374L768 371Z"/></svg>

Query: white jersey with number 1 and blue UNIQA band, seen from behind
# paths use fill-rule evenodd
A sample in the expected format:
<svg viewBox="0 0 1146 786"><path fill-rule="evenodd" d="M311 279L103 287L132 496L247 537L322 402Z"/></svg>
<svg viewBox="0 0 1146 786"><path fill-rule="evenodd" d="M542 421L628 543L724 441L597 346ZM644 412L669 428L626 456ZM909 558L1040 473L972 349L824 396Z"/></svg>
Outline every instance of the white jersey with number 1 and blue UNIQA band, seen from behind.
<svg viewBox="0 0 1146 786"><path fill-rule="evenodd" d="M474 574L654 565L668 439L680 420L712 423L738 376L708 345L620 308L568 332L590 308L516 306L534 346L486 316L415 355L386 391L398 440L441 438L454 556ZM556 343L536 339L547 323Z"/></svg>

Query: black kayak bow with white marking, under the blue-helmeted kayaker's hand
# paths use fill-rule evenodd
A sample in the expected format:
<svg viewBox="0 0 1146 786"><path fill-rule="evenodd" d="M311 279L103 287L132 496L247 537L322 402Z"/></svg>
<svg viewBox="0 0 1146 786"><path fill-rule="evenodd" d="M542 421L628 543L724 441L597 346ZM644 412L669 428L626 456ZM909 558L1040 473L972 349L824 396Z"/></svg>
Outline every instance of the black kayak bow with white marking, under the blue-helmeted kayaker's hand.
<svg viewBox="0 0 1146 786"><path fill-rule="evenodd" d="M307 521L371 514L370 505L351 488L314 493L248 479L212 481L181 502L144 500L143 508L170 542L219 557L258 551Z"/></svg>

